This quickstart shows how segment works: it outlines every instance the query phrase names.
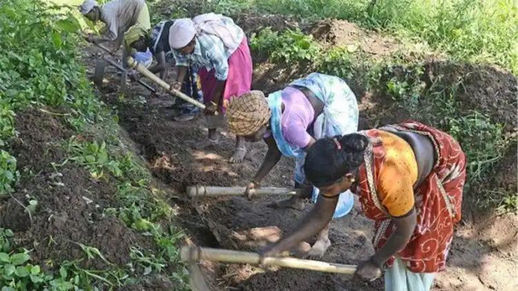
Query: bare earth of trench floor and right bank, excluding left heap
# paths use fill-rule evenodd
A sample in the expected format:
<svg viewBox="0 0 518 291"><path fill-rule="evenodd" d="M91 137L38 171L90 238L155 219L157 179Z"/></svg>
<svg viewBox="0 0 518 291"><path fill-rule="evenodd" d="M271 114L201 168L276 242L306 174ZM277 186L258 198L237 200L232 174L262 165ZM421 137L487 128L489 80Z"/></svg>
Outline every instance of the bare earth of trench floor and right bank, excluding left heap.
<svg viewBox="0 0 518 291"><path fill-rule="evenodd" d="M268 19L271 19L269 17ZM370 54L385 54L399 46L391 39L363 32L351 23L340 21L343 33L336 23L322 23L314 27L333 34L318 32L328 43L347 43L359 46ZM251 28L253 29L253 28ZM358 42L358 39L363 39ZM90 49L89 54L96 52ZM437 60L428 65L427 76L432 81L452 82L461 75L472 77L464 84L461 95L469 99L473 108L481 108L496 119L504 119L511 128L516 126L515 77L491 66L474 67L445 63ZM269 71L269 76L264 72ZM256 68L254 86L266 91L276 90L287 81L304 74L300 70L276 68L265 62ZM441 76L440 79L437 76ZM115 74L107 75L111 84L117 83ZM426 80L425 80L426 81ZM239 165L227 163L234 137L221 131L220 143L206 150L195 150L204 140L204 121L178 123L173 121L171 100L153 97L143 88L132 86L131 93L119 98L113 85L99 88L99 98L118 110L121 126L144 157L155 177L177 194L173 201L182 211L180 220L193 241L201 245L256 250L268 241L278 238L279 230L286 232L303 215L295 210L274 210L267 205L282 197L260 197L248 201L242 197L186 201L183 192L188 185L242 186L253 177L265 154L262 143L248 144L247 156ZM361 102L362 115L371 121L390 123L406 119L404 112L396 111L391 100L380 99L372 92L356 91ZM514 158L513 158L514 157ZM282 159L264 185L286 187L291 184L292 161ZM499 165L499 179L506 188L516 185L515 152ZM311 208L307 204L305 211ZM448 261L448 269L437 276L435 290L516 290L518 288L517 250L518 219L513 214L486 214L464 208L464 219L459 223ZM372 223L361 215L358 203L352 214L332 223L332 247L323 261L355 264L372 254ZM259 229L258 229L259 228ZM262 272L249 265L203 264L207 279L215 290L381 290L383 282L369 285L352 281L350 276L320 274L297 270Z"/></svg>

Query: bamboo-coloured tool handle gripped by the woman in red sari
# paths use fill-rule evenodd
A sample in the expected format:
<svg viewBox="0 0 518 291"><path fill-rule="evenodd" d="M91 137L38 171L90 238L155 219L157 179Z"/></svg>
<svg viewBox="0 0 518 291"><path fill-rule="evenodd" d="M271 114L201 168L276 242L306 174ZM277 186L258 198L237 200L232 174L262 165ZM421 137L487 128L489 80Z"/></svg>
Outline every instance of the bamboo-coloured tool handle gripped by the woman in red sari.
<svg viewBox="0 0 518 291"><path fill-rule="evenodd" d="M249 263L252 265L258 265L260 263L260 256L255 252L240 252L237 250L221 250L215 248L182 247L180 256L182 257L182 261L207 260L222 263ZM354 274L356 271L356 265L343 265L340 263L327 263L291 257L266 257L262 263L285 268L337 274Z"/></svg>

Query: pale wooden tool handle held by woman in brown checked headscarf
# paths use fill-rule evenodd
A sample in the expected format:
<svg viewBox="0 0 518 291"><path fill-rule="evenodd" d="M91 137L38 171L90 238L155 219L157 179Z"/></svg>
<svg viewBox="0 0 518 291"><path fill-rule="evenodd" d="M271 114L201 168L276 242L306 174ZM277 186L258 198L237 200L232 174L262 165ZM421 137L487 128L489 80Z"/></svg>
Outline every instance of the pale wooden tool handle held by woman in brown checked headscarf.
<svg viewBox="0 0 518 291"><path fill-rule="evenodd" d="M195 185L187 187L188 197L218 197L218 196L239 196L244 193L246 188L242 187L212 187ZM291 188L258 188L251 190L252 195L294 195L296 192Z"/></svg>

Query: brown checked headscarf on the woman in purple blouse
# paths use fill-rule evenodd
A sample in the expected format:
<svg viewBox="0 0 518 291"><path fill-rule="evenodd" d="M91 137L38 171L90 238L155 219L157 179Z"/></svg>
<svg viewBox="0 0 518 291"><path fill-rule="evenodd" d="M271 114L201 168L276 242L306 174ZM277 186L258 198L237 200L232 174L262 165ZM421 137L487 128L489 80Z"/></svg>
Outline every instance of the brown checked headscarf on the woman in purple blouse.
<svg viewBox="0 0 518 291"><path fill-rule="evenodd" d="M270 108L261 91L253 90L233 100L227 109L230 132L244 137L257 132L270 120Z"/></svg>

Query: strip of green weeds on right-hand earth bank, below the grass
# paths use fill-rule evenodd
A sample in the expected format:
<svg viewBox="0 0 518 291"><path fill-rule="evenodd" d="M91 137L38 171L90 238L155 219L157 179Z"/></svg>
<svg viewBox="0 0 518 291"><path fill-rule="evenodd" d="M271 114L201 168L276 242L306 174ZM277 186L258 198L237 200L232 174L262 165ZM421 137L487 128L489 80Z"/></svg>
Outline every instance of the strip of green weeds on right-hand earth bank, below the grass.
<svg viewBox="0 0 518 291"><path fill-rule="evenodd" d="M464 109L463 103L458 100L457 91L462 86L462 80L445 88L426 88L420 59L407 61L399 52L379 60L347 48L323 50L311 36L300 30L272 32L269 28L251 37L251 49L267 52L269 60L275 63L309 61L307 66L311 70L334 74L347 80L354 79L365 88L392 97L396 106L412 116L412 119L449 132L463 145L468 156L466 192L470 188L482 188L488 175L492 174L493 166L515 142L515 139L505 134L501 124L491 121L486 114ZM501 205L506 210L517 210L517 201L515 193L495 195L492 190L477 193L477 203L481 207Z"/></svg>

